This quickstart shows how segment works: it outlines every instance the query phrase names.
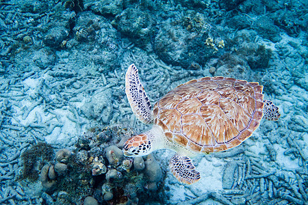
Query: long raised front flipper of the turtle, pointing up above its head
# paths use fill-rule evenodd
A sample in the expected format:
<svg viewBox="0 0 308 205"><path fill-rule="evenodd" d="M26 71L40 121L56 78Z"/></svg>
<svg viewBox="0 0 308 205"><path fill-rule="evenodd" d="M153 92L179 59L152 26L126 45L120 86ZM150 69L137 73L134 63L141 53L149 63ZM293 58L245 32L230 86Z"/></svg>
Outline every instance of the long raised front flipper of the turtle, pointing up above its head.
<svg viewBox="0 0 308 205"><path fill-rule="evenodd" d="M129 66L125 76L125 92L129 105L137 118L145 124L153 122L151 103L138 77L138 69L134 64Z"/></svg>

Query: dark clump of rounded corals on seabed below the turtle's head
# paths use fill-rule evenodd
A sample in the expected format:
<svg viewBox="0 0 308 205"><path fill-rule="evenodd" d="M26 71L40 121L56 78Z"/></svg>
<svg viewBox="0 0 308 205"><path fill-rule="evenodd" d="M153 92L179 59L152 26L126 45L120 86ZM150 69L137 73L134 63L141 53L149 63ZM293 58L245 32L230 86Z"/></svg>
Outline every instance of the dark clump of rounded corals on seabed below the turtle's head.
<svg viewBox="0 0 308 205"><path fill-rule="evenodd" d="M120 148L110 146L131 135L131 130L118 126L95 127L79 137L72 151L58 150L40 171L44 202L51 198L55 204L77 204L82 199L84 204L127 204L142 202L146 195L155 201L159 192L150 191L162 186L164 175L154 156L133 162Z"/></svg>

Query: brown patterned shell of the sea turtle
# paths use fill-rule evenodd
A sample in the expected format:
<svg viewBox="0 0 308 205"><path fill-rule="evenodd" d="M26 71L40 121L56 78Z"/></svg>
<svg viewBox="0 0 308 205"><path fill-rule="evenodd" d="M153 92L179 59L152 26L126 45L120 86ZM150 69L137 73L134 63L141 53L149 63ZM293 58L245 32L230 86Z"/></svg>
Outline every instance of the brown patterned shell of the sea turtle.
<svg viewBox="0 0 308 205"><path fill-rule="evenodd" d="M188 81L153 107L154 123L169 141L194 152L220 152L240 145L259 126L263 86L224 77Z"/></svg>

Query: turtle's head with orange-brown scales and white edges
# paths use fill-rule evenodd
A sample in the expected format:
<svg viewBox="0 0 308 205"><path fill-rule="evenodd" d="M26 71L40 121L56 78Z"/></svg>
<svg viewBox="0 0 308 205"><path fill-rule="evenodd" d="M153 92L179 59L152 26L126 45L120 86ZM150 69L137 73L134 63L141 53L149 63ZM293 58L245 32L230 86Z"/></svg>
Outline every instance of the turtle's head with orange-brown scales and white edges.
<svg viewBox="0 0 308 205"><path fill-rule="evenodd" d="M153 151L152 141L144 134L133 136L125 142L123 152L125 156L146 156Z"/></svg>

